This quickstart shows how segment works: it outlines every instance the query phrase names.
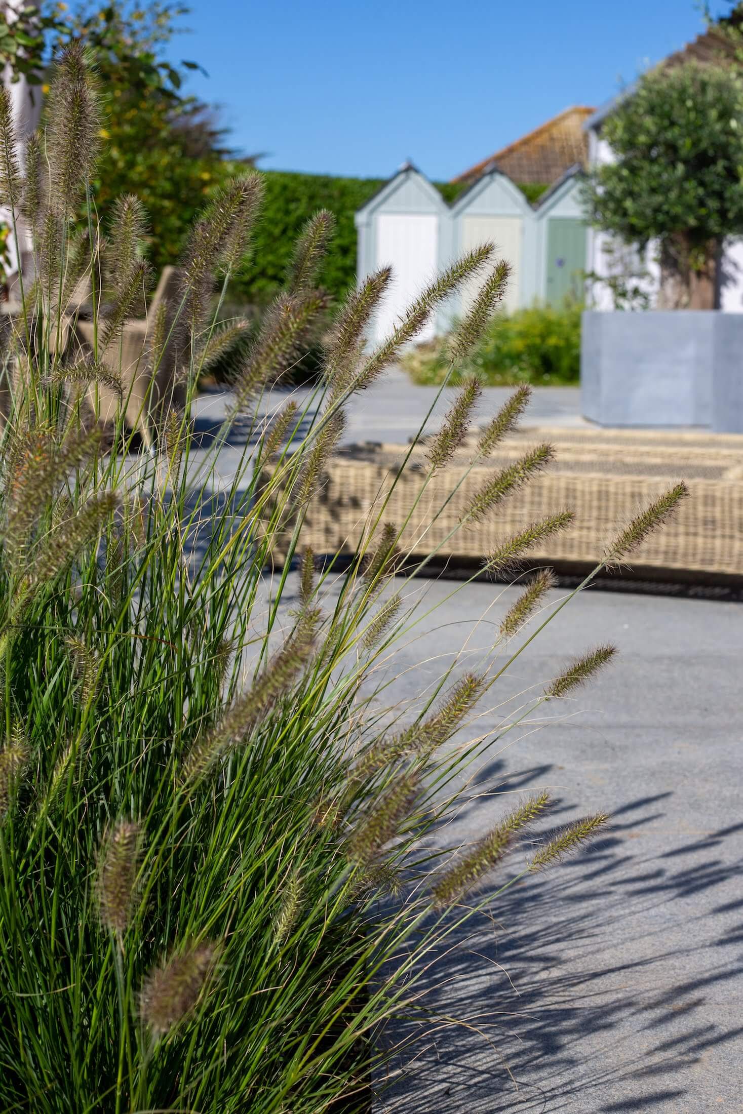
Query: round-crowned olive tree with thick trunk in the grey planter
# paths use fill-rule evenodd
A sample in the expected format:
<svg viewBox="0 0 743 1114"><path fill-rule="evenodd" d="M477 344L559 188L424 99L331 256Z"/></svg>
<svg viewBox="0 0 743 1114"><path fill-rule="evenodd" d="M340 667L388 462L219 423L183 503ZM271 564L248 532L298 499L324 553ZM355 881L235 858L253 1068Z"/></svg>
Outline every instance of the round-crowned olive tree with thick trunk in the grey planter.
<svg viewBox="0 0 743 1114"><path fill-rule="evenodd" d="M606 120L615 162L594 167L590 223L657 245L658 306L714 309L726 236L743 234L743 82L735 67L645 74Z"/></svg>

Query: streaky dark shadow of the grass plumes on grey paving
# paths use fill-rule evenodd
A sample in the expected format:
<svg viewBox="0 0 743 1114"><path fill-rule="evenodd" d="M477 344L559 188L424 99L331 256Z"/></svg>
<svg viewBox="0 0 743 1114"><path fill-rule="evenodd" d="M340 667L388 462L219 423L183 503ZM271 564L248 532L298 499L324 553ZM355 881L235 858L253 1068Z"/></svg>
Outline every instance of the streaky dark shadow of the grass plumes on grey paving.
<svg viewBox="0 0 743 1114"><path fill-rule="evenodd" d="M447 940L418 1013L388 1033L398 1053L378 1111L740 1108L743 899L727 897L741 892L743 824L637 853L669 797L627 802L603 841Z"/></svg>

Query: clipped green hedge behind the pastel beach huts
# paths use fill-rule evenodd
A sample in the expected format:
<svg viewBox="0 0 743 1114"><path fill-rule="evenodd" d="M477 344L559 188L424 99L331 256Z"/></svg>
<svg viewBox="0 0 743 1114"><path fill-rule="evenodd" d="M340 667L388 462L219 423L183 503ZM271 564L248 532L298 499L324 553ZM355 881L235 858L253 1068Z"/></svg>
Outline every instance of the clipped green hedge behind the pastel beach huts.
<svg viewBox="0 0 743 1114"><path fill-rule="evenodd" d="M384 184L383 178L336 178L329 174L264 170L265 204L253 253L233 282L233 296L265 304L283 284L293 242L319 208L335 214L338 229L322 282L335 297L356 280L356 228L353 215ZM434 183L447 204L461 193L459 183Z"/></svg>

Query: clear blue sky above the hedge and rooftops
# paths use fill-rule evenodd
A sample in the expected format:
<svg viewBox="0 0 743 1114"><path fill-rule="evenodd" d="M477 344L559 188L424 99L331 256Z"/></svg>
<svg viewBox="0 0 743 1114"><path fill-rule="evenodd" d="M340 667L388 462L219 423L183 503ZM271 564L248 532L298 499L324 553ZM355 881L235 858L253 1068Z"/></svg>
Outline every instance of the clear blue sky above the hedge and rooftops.
<svg viewBox="0 0 743 1114"><path fill-rule="evenodd" d="M448 179L600 105L702 30L694 0L190 0L173 58L263 167ZM718 12L729 10L717 0Z"/></svg>

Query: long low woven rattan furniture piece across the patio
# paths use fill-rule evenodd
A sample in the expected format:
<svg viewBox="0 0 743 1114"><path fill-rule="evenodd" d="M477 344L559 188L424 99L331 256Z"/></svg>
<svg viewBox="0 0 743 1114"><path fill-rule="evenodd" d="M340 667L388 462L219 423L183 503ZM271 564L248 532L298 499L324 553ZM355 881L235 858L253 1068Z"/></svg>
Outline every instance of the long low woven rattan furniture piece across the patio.
<svg viewBox="0 0 743 1114"><path fill-rule="evenodd" d="M475 440L430 482L412 511L402 540L422 558L479 560L524 526L563 508L575 524L530 550L535 561L594 566L607 541L638 508L678 479L691 496L672 525L652 534L633 555L635 573L654 577L743 578L743 436L644 430L524 429L487 462L467 468ZM492 470L548 441L555 461L485 521L457 529L463 507ZM311 502L302 546L315 554L353 554L382 501L382 520L402 524L427 475L424 446L417 447L397 482L403 446L360 444L343 449L326 467L325 483ZM449 498L442 514L436 509ZM281 560L282 554L275 554Z"/></svg>

